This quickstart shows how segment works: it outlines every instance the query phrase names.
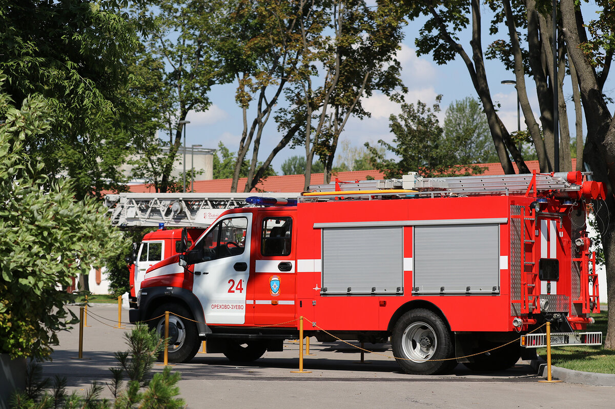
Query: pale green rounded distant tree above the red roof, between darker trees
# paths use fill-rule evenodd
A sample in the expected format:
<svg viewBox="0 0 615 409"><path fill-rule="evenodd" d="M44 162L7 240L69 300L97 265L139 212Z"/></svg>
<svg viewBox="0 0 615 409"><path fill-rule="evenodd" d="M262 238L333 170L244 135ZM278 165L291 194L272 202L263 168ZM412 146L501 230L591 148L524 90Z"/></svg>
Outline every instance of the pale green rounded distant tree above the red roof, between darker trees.
<svg viewBox="0 0 615 409"><path fill-rule="evenodd" d="M451 155L458 164L498 162L489 124L477 100L466 97L453 101L444 116L444 137L451 141Z"/></svg>

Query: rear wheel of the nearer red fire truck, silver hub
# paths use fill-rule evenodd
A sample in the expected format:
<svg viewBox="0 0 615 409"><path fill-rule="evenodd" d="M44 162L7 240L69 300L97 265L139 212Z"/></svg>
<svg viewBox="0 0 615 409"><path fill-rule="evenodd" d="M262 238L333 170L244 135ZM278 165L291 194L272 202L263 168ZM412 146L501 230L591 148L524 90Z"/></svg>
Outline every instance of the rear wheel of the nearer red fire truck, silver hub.
<svg viewBox="0 0 615 409"><path fill-rule="evenodd" d="M423 308L403 314L391 335L397 363L412 375L434 375L456 367L451 340L444 320Z"/></svg>

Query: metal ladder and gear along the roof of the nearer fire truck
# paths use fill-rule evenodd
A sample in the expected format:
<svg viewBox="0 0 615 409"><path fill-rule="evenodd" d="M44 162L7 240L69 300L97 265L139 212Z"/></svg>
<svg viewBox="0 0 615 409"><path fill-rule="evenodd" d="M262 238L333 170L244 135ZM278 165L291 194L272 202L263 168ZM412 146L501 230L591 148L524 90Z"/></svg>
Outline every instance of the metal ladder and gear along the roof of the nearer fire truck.
<svg viewBox="0 0 615 409"><path fill-rule="evenodd" d="M302 201L327 199L343 193L344 197L382 197L382 196L460 196L535 194L547 191L564 193L580 191L580 180L571 183L569 172L553 174L526 173L520 175L486 175L446 178L423 178L410 172L402 179L361 180L343 182L336 180L328 185L311 185L309 193L304 193ZM575 173L575 172L572 172ZM585 175L589 172L581 173ZM579 176L581 176L579 175ZM582 176L581 176L582 177ZM341 196L341 195L337 195Z"/></svg>

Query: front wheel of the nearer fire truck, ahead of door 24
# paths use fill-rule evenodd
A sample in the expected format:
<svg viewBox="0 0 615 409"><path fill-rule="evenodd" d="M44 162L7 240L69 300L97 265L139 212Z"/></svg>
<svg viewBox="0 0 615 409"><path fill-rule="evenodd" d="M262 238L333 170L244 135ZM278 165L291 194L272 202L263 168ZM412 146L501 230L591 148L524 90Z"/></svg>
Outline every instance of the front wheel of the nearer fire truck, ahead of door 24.
<svg viewBox="0 0 615 409"><path fill-rule="evenodd" d="M148 321L150 328L156 328L161 338L164 338L164 312L169 311L169 362L188 362L199 351L200 340L196 323L192 314L184 306L175 303L162 304L154 309L151 317L159 319ZM164 351L158 355L164 359Z"/></svg>

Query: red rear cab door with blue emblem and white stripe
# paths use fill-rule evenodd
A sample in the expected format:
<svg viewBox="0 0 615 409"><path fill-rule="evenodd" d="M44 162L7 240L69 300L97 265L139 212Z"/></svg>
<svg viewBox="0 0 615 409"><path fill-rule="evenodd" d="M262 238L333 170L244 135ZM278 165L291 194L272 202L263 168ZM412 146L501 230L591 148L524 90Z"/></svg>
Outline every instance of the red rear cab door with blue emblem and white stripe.
<svg viewBox="0 0 615 409"><path fill-rule="evenodd" d="M295 224L284 212L260 213L255 224L253 290L254 323L294 327L295 320Z"/></svg>

